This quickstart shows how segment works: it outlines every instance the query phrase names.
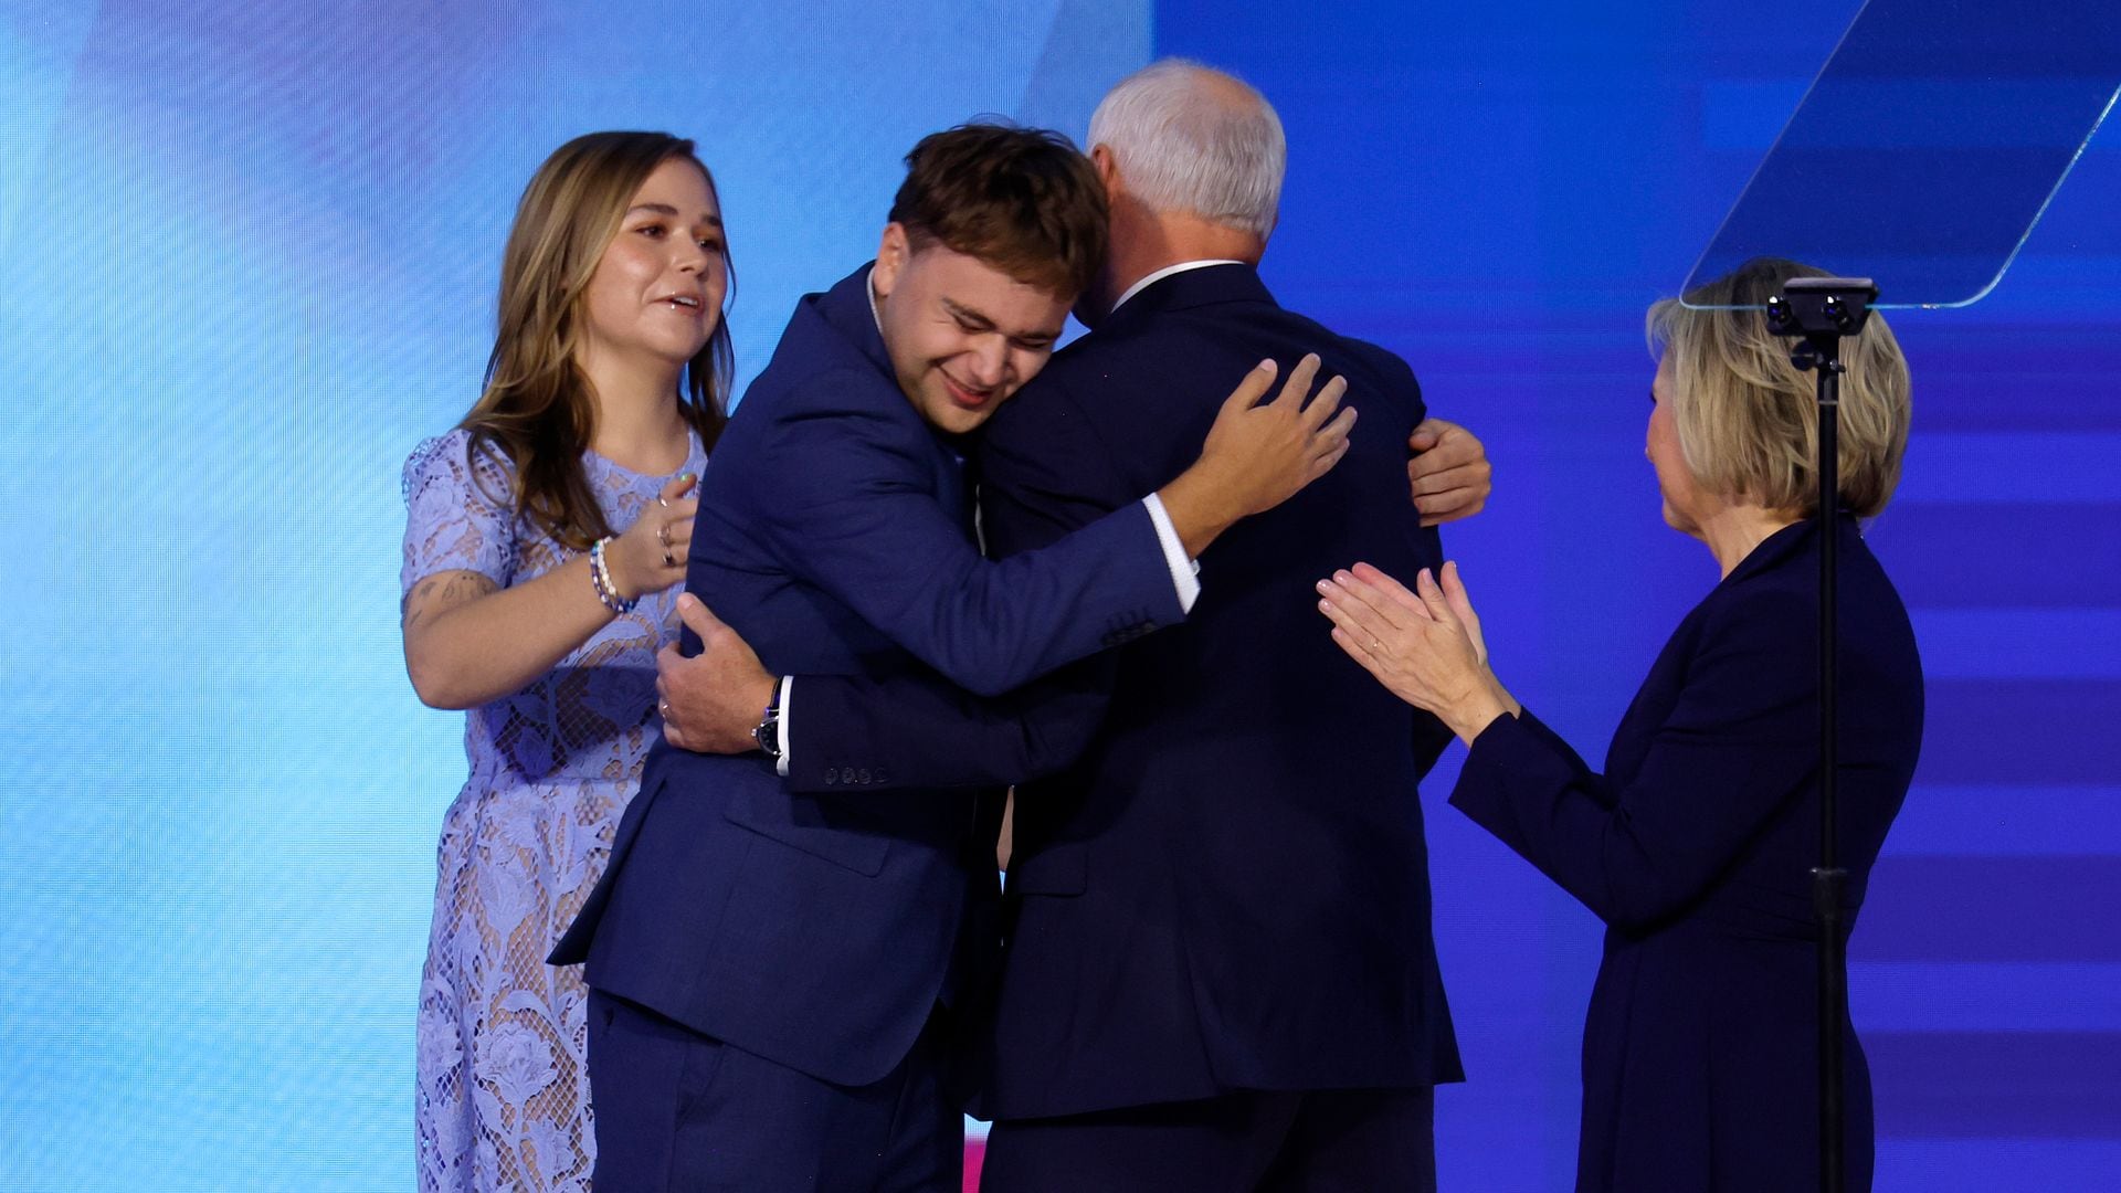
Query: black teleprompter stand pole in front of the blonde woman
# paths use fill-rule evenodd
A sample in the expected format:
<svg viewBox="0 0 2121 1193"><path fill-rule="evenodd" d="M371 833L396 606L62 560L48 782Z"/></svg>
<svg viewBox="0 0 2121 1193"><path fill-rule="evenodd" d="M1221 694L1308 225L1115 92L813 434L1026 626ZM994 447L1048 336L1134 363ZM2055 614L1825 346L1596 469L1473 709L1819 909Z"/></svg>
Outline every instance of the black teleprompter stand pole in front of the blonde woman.
<svg viewBox="0 0 2121 1193"><path fill-rule="evenodd" d="M1811 913L1820 923L1820 1189L1843 1187L1841 1025L1847 1021L1847 940L1841 898L1847 870L1837 864L1835 732L1837 603L1841 548L1841 340L1862 331L1877 287L1871 278L1790 278L1767 301L1775 335L1801 335L1790 359L1818 374L1820 397L1820 864L1811 870Z"/></svg>

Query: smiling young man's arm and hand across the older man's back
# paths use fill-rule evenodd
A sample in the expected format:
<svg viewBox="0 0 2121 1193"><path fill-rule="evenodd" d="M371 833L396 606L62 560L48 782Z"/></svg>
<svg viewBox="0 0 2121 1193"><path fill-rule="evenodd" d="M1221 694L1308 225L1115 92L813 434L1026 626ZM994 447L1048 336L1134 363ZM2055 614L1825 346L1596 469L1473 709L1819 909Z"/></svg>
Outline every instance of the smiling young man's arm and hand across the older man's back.
<svg viewBox="0 0 2121 1193"><path fill-rule="evenodd" d="M957 482L942 476L948 469L927 429L808 403L831 416L789 418L770 433L768 476L781 488L766 505L768 531L791 575L963 688L995 696L1181 620L1190 601L1167 537L1198 554L1340 461L1355 412L1334 414L1340 378L1313 399L1317 367L1317 357L1304 357L1266 401L1277 369L1251 369L1179 478L1147 497L1124 495L1065 537L997 550L997 560L965 537L952 507ZM842 371L810 384L829 391L863 380ZM1037 410L1056 397L1039 395Z"/></svg>

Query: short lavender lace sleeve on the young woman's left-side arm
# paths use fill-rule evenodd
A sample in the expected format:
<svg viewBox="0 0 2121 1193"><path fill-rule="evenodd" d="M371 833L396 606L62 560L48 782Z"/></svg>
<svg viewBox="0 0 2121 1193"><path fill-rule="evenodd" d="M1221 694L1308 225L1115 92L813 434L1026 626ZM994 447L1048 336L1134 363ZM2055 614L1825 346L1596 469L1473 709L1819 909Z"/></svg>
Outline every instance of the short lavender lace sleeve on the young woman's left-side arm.
<svg viewBox="0 0 2121 1193"><path fill-rule="evenodd" d="M405 461L405 565L399 592L437 571L477 571L507 588L515 575L513 478L490 450L471 459L471 433L420 444Z"/></svg>

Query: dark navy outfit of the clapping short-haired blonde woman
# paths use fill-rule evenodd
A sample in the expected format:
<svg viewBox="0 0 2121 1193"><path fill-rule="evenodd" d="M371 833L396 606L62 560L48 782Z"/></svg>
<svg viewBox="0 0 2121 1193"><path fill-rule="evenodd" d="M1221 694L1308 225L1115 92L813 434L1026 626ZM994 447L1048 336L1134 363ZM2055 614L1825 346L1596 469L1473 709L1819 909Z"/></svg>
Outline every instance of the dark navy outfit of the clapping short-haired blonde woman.
<svg viewBox="0 0 2121 1193"><path fill-rule="evenodd" d="M1839 862L1847 923L1922 747L1907 609L1839 526ZM1608 923L1584 1023L1580 1191L1818 1187L1818 529L1763 541L1671 635L1593 773L1495 717L1451 802ZM1847 1189L1871 1080L1843 1021Z"/></svg>

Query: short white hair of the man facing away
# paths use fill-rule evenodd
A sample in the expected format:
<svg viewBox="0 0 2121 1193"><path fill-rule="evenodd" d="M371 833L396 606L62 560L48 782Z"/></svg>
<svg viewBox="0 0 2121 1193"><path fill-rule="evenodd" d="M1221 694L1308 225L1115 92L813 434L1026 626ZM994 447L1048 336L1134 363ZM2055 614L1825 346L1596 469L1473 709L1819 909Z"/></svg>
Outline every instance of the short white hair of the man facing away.
<svg viewBox="0 0 2121 1193"><path fill-rule="evenodd" d="M1167 57L1128 74L1090 117L1090 146L1120 163L1154 212L1194 214L1260 238L1281 210L1287 140L1266 96L1220 70Z"/></svg>

